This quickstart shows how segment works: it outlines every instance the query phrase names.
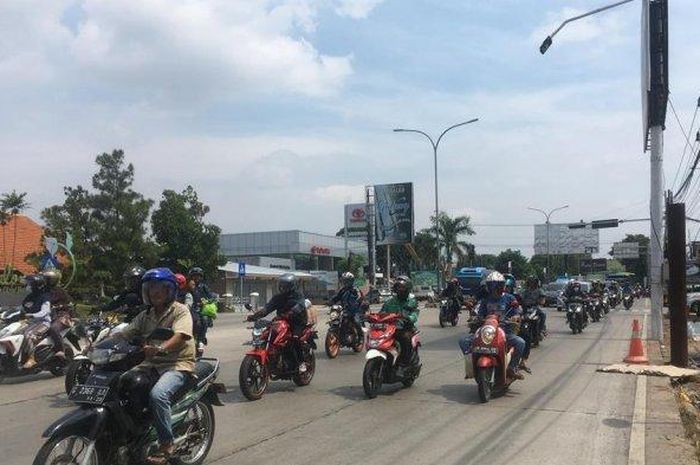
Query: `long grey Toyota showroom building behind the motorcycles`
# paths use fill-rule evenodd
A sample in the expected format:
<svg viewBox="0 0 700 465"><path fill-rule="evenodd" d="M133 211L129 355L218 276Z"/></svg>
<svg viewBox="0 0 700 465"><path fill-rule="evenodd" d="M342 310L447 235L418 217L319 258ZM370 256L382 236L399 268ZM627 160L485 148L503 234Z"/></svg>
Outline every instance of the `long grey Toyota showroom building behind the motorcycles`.
<svg viewBox="0 0 700 465"><path fill-rule="evenodd" d="M275 291L275 280L292 271L302 282L304 294L325 301L338 288L338 262L346 253L367 256L367 243L304 231L267 231L222 234L219 249L228 263L219 268L224 277L221 290L235 302L246 301L257 292L267 301ZM239 263L245 263L241 280ZM242 292L241 292L242 286Z"/></svg>

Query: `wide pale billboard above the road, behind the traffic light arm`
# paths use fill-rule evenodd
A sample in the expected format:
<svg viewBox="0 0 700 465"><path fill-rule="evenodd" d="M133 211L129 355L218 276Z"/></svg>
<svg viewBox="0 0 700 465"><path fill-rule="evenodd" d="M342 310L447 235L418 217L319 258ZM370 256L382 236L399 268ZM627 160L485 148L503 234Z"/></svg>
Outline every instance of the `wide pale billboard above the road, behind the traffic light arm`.
<svg viewBox="0 0 700 465"><path fill-rule="evenodd" d="M568 224L549 224L549 254L570 255L598 253L600 234L590 224L569 229ZM535 255L547 254L547 225L535 225Z"/></svg>

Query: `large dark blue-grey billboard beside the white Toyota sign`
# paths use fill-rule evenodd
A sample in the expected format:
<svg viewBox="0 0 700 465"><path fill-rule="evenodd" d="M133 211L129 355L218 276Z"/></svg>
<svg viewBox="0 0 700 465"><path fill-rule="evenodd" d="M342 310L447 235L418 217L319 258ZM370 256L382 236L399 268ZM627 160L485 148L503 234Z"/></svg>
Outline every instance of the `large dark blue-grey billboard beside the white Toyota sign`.
<svg viewBox="0 0 700 465"><path fill-rule="evenodd" d="M374 186L377 245L413 241L413 183Z"/></svg>

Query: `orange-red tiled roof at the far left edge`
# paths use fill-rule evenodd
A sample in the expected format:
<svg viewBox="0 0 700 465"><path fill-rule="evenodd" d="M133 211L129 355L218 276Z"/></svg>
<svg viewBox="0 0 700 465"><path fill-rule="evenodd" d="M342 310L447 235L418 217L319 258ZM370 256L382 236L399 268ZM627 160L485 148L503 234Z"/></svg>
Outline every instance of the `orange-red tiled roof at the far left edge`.
<svg viewBox="0 0 700 465"><path fill-rule="evenodd" d="M17 245L14 247L15 224L17 225ZM12 249L14 247L14 268L22 274L32 274L37 270L24 259L31 253L41 253L44 250L42 237L44 228L31 218L16 215L10 218L6 225L0 225L0 272L7 264L12 264Z"/></svg>

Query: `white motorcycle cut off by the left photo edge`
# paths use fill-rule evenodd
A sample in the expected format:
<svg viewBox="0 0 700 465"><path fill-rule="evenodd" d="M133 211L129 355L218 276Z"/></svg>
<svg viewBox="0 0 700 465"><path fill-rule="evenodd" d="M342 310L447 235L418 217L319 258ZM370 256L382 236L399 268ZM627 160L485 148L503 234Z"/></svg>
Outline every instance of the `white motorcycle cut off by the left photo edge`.
<svg viewBox="0 0 700 465"><path fill-rule="evenodd" d="M14 316L16 321L0 330L0 382L7 376L19 377L49 371L63 376L74 354L81 351L86 341L74 331L74 325L66 325L61 331L65 358L55 356L53 340L48 337L49 326L43 322L30 322L23 313ZM34 357L36 364L25 368Z"/></svg>

